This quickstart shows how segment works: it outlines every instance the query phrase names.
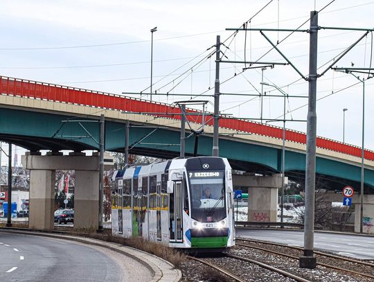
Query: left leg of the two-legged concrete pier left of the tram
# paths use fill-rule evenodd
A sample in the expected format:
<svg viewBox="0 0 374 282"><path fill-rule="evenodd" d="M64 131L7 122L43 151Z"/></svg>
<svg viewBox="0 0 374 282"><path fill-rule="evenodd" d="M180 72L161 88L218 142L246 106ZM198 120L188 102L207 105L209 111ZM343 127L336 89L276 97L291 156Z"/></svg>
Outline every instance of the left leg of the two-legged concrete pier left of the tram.
<svg viewBox="0 0 374 282"><path fill-rule="evenodd" d="M54 211L55 170L31 170L28 227L53 229Z"/></svg>

